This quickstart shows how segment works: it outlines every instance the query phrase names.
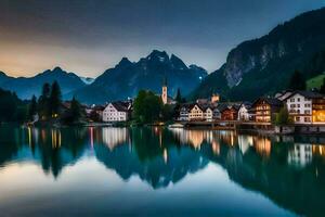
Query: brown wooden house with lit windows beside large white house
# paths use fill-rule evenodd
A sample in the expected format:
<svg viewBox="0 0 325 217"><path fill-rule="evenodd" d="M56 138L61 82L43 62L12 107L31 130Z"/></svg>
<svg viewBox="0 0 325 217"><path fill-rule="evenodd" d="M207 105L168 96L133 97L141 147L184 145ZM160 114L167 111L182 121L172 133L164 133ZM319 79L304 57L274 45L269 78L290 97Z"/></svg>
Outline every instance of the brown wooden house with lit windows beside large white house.
<svg viewBox="0 0 325 217"><path fill-rule="evenodd" d="M259 98L252 105L255 120L260 123L271 123L272 117L280 112L282 102L275 98Z"/></svg>

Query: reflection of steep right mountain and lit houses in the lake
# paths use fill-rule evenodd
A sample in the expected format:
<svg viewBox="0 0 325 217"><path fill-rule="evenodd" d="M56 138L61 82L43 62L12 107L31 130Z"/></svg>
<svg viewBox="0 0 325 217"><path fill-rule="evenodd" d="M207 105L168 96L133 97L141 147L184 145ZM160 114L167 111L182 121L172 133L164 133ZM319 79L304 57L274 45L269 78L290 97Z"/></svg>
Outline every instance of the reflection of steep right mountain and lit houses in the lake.
<svg viewBox="0 0 325 217"><path fill-rule="evenodd" d="M204 158L224 167L230 179L242 187L261 192L299 215L323 214L325 145L321 144L324 137L268 138L212 130L171 131L181 144L193 146Z"/></svg>

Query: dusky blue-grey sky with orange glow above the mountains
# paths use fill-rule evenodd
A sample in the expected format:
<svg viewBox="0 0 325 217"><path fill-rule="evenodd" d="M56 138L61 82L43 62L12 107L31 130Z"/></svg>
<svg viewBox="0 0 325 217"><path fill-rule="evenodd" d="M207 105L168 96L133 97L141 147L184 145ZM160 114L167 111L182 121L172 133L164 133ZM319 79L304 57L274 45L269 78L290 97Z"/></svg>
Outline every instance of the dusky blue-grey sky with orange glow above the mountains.
<svg viewBox="0 0 325 217"><path fill-rule="evenodd" d="M96 77L123 56L165 50L208 72L238 43L325 0L0 0L0 71L61 66Z"/></svg>

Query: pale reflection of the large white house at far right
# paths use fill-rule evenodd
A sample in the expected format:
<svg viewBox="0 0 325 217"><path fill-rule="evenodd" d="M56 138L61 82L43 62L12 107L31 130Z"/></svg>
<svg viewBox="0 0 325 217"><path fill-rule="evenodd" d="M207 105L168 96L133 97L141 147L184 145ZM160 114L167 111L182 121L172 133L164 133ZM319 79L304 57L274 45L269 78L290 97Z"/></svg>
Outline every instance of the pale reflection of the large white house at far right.
<svg viewBox="0 0 325 217"><path fill-rule="evenodd" d="M298 144L294 145L288 152L288 163L296 166L306 166L312 162L312 145Z"/></svg>

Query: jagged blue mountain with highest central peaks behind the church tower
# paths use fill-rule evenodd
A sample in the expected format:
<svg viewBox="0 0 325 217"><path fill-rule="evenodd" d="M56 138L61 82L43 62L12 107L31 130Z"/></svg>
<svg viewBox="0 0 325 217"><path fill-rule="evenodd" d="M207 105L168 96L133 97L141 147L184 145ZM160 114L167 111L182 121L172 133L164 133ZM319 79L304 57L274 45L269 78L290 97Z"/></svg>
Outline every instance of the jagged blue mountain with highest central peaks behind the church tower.
<svg viewBox="0 0 325 217"><path fill-rule="evenodd" d="M87 103L104 103L110 100L121 100L134 97L140 89L150 89L157 93L161 91L164 78L168 81L168 91L171 97L180 88L182 94L188 94L196 88L207 72L196 65L186 64L165 51L154 50L139 62L131 62L127 58L114 67L105 71L94 82L81 88L75 94Z"/></svg>

